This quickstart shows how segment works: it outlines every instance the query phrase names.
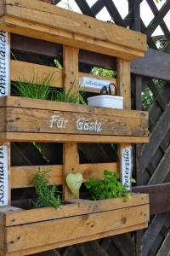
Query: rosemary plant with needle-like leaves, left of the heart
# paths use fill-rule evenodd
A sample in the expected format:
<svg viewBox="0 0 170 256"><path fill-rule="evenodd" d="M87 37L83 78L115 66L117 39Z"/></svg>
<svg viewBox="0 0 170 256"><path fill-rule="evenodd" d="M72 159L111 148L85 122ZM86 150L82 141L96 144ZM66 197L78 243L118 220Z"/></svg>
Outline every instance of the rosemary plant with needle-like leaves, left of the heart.
<svg viewBox="0 0 170 256"><path fill-rule="evenodd" d="M48 183L48 172L49 171L40 172L40 170L38 170L32 180L37 193L37 198L33 201L33 205L36 208L54 207L56 209L61 205L57 186L49 185Z"/></svg>

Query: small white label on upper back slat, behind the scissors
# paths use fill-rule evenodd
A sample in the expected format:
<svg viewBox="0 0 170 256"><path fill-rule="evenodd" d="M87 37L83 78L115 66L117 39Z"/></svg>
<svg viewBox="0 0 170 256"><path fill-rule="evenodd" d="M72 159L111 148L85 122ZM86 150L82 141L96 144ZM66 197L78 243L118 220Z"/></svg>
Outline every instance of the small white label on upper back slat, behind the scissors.
<svg viewBox="0 0 170 256"><path fill-rule="evenodd" d="M82 87L95 88L101 90L103 86L109 86L109 84L111 84L111 81L83 77L82 79L80 79L80 84Z"/></svg>

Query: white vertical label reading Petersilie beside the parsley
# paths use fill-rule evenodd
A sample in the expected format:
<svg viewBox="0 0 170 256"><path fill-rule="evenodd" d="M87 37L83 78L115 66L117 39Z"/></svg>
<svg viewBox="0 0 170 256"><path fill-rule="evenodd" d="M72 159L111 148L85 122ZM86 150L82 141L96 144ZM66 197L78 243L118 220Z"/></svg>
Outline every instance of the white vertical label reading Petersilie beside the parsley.
<svg viewBox="0 0 170 256"><path fill-rule="evenodd" d="M133 152L132 147L122 148L121 152L121 180L122 184L131 190L131 177L133 171Z"/></svg>

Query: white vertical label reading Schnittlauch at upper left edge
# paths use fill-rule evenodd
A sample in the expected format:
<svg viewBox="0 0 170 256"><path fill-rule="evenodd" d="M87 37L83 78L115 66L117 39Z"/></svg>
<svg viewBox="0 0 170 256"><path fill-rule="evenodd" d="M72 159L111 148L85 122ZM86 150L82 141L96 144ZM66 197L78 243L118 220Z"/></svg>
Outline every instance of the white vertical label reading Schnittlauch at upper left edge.
<svg viewBox="0 0 170 256"><path fill-rule="evenodd" d="M0 96L9 95L10 41L8 32L0 31Z"/></svg>

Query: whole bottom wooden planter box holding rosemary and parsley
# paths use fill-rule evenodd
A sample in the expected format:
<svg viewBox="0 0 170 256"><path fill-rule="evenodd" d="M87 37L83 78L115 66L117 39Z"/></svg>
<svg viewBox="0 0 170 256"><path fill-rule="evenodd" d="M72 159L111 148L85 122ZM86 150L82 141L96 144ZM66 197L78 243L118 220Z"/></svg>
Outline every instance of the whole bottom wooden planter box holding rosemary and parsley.
<svg viewBox="0 0 170 256"><path fill-rule="evenodd" d="M3 207L0 209L0 255L29 255L144 229L148 220L149 196L144 194L132 195L127 202L121 198L77 200L57 210Z"/></svg>

